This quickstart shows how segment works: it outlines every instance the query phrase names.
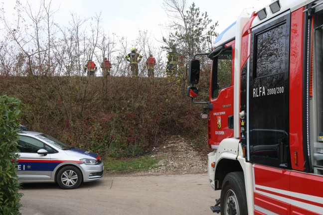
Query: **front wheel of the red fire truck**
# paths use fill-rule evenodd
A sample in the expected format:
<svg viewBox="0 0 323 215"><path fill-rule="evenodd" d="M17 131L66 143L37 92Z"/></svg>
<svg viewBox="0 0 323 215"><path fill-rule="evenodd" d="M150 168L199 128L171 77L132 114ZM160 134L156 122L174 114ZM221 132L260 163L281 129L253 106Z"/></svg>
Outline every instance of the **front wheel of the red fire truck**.
<svg viewBox="0 0 323 215"><path fill-rule="evenodd" d="M225 176L221 190L221 215L248 215L243 172Z"/></svg>

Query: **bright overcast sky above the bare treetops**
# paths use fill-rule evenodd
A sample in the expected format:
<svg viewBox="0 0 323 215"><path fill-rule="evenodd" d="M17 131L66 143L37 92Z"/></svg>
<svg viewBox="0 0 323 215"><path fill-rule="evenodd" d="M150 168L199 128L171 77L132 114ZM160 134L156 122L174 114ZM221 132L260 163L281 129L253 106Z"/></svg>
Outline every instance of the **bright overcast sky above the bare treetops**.
<svg viewBox="0 0 323 215"><path fill-rule="evenodd" d="M20 0L24 5L26 0ZM9 15L13 11L15 0L2 0ZM39 0L29 0L35 10ZM167 31L162 28L169 19L163 9L163 0L52 0L53 8L59 8L54 22L60 26L71 20L70 13L80 17L95 16L102 11L102 23L105 32L126 37L129 41L138 37L139 30L147 30L151 38L161 39ZM195 3L201 12L207 12L209 18L218 21L216 28L221 33L232 24L243 11L251 13L269 4L271 0L187 0L187 5Z"/></svg>

